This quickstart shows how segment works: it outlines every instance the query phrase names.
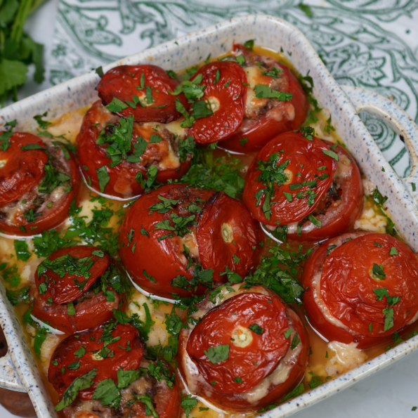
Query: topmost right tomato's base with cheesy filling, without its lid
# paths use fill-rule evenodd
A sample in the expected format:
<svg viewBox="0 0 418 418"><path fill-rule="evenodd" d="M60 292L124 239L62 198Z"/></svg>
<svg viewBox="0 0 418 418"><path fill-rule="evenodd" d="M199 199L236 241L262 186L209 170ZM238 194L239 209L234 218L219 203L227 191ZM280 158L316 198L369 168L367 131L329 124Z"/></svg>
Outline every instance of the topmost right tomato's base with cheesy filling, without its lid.
<svg viewBox="0 0 418 418"><path fill-rule="evenodd" d="M236 152L257 151L280 133L299 129L308 113L308 99L286 65L255 55L239 44L234 45L234 51L245 58L245 82L249 86L244 121L221 147Z"/></svg>

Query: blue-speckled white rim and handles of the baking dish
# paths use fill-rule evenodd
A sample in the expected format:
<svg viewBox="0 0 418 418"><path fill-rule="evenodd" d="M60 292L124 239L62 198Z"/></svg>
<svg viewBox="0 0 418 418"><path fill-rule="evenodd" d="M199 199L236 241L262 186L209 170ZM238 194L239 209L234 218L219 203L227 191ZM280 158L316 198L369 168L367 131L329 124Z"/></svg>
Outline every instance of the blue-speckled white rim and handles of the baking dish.
<svg viewBox="0 0 418 418"><path fill-rule="evenodd" d="M412 183L418 184L417 126L403 110L381 96L348 86L342 89L329 74L306 37L288 22L268 15L234 18L119 60L107 65L103 70L106 72L111 67L122 64L150 63L159 65L165 70L177 71L195 64L209 53L212 56L225 53L230 50L233 41L243 42L247 39L256 39L256 44L275 50L280 50L282 47L284 51L292 53L289 59L296 70L301 74L310 71L315 84L313 91L315 98L318 99L325 113L332 116L332 124L348 150L357 159L362 171L379 186L383 195L388 196L385 206L410 247L414 252L418 252L416 200L418 192L412 192ZM10 120L18 119L18 130L32 130L36 128L36 122L32 119L34 115L47 110L48 118L54 119L84 106L97 98L94 89L98 80L99 77L94 72L84 74L6 107L0 110L0 127ZM398 178L391 169L358 117L356 112L360 110L382 117L405 138L412 162L412 173L408 178ZM381 171L382 167L385 171ZM34 364L30 347L20 329L20 323L6 298L2 282L0 283L0 323L9 346L8 356L0 360L0 386L15 391L28 391L39 418L56 417L51 399ZM417 348L418 336L351 372L318 386L313 391L265 412L262 417L288 417L301 408L327 398L355 381L386 367Z"/></svg>

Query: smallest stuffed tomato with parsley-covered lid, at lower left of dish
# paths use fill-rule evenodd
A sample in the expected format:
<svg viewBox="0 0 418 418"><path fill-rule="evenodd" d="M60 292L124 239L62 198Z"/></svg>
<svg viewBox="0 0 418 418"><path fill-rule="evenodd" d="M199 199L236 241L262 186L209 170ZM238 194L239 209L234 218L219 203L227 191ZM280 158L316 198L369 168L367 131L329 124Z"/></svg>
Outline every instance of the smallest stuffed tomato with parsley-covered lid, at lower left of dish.
<svg viewBox="0 0 418 418"><path fill-rule="evenodd" d="M113 318L126 280L101 249L58 249L37 267L32 314L66 334L97 327Z"/></svg>

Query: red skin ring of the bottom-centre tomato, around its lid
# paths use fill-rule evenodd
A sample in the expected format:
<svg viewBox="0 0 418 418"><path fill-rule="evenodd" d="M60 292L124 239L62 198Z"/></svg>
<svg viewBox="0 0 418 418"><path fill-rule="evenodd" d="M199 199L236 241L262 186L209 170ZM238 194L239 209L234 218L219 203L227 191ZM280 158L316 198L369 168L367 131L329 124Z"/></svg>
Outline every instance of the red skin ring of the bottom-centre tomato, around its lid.
<svg viewBox="0 0 418 418"><path fill-rule="evenodd" d="M258 287L258 286L257 286ZM252 289L254 289L253 287ZM250 291L252 291L250 289ZM254 290L255 292L255 290ZM277 297L277 295L271 293L273 297ZM202 396L204 398L208 398L209 402L213 403L217 407L220 407L223 410L233 410L233 411L254 411L259 410L262 407L266 407L273 402L279 403L282 398L284 398L289 391L292 391L294 386L299 384L301 379L303 379L303 375L305 374L306 365L308 364L308 352L309 352L309 340L308 334L306 334L305 327L303 327L303 323L299 319L299 316L292 311L289 306L285 304L285 312L288 319L291 319L293 322L293 327L296 332L299 333L299 339L301 342L299 344L302 345L301 353L299 354L299 358L297 359L294 367L289 372L289 377L287 380L282 384L278 384L270 386L268 394L261 398L257 403L249 403L247 400L242 400L242 398L238 395L235 396L233 393L220 393L215 389L211 391L210 398L208 398L205 390L207 388L202 388L200 385L197 386L197 391L195 394L197 396ZM187 339L180 337L178 341L178 365L181 374L185 375L183 370L183 364L181 362L181 358L187 352ZM216 386L215 386L216 388Z"/></svg>

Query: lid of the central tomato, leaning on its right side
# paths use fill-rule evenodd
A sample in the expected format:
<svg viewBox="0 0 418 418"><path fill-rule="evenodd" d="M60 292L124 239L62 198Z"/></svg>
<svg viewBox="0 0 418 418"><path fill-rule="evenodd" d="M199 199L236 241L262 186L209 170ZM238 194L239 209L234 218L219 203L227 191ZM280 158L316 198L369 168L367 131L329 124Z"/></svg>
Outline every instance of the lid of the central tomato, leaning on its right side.
<svg viewBox="0 0 418 418"><path fill-rule="evenodd" d="M227 239L222 229L226 225L232 232ZM200 213L197 226L200 260L203 268L214 269L216 282L228 281L226 275L219 275L226 270L225 266L241 277L255 270L261 259L262 240L261 228L244 204L223 192L212 195ZM238 263L233 255L240 259Z"/></svg>

